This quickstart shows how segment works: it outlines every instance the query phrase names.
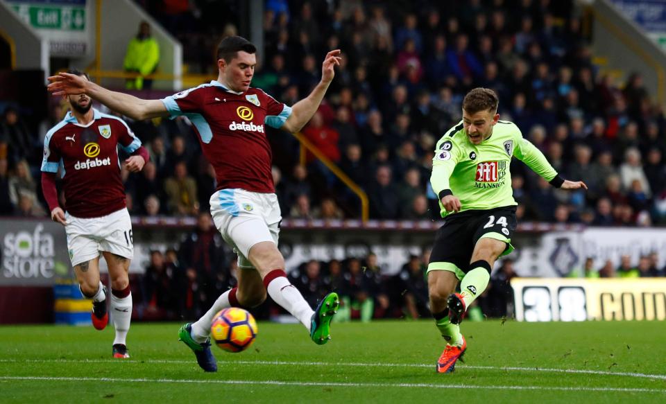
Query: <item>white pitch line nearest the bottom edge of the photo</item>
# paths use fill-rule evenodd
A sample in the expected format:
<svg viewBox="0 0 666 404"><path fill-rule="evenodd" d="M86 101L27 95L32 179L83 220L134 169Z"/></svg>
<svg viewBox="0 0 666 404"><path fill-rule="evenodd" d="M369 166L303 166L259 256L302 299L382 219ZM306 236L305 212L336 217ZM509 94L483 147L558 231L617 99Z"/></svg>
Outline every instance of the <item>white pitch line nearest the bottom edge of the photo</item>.
<svg viewBox="0 0 666 404"><path fill-rule="evenodd" d="M82 381L82 382L125 382L125 383L192 383L219 385L271 385L298 387L422 387L427 389L502 389L502 390L556 390L566 392L630 392L665 393L666 389L642 389L623 387L549 387L549 386L487 386L487 385L443 385L431 383L325 383L325 382L285 382L281 380L189 380L189 379L148 379L148 378L80 378L49 376L0 376L0 380L42 380L42 381Z"/></svg>

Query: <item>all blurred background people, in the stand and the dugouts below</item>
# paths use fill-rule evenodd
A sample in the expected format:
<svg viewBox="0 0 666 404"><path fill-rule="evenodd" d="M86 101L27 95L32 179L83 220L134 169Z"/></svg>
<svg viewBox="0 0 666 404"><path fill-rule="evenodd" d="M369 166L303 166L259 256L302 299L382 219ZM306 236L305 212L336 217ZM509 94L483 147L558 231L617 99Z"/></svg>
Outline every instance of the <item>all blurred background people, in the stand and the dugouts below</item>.
<svg viewBox="0 0 666 404"><path fill-rule="evenodd" d="M238 33L232 3L137 3L182 42L187 71L216 76L216 42ZM572 10L571 0L266 0L266 48L253 87L293 105L320 79L325 53L342 49L334 82L302 134L364 189L370 218L438 216L429 186L435 143L461 119L466 91L488 87L499 95L502 119L515 122L564 177L589 188L561 193L513 161L519 220L664 225L663 106L651 101L640 73L620 82L599 71L583 19ZM45 216L38 186L42 141L67 105L54 104L41 124L3 107L0 216ZM198 216L199 222L178 249L151 254L135 296L142 297L146 318L193 317L234 285L234 257L225 254L210 218L199 214L215 189L212 166L186 117L128 123L151 153L142 173L123 173L130 213ZM300 164L296 139L275 130L268 138L283 217L359 218L357 197L321 161L306 155ZM663 276L649 256L624 261L601 271L603 263L589 265L601 276ZM479 299L484 314L506 315L507 307L511 313L512 265L506 260L493 274ZM370 254L303 263L291 281L311 301L337 290L349 310L342 318L418 317L427 314L426 266L427 253L385 276ZM267 306L263 313L275 310Z"/></svg>

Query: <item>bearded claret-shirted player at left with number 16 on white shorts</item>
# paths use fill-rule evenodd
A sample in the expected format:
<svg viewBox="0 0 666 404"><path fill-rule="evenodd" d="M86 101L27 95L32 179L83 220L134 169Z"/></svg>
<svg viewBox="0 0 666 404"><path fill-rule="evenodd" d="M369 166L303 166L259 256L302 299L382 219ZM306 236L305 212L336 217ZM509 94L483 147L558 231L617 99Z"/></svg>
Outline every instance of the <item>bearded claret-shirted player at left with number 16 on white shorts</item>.
<svg viewBox="0 0 666 404"><path fill-rule="evenodd" d="M82 82L87 75L69 74ZM46 133L42 161L42 191L51 220L65 226L67 249L81 293L92 299L92 324L103 330L108 324L106 301L116 331L114 358L129 358L126 345L132 317L128 269L134 256L132 222L120 177L118 147L130 154L125 166L137 173L148 161L148 150L128 125L116 116L92 108L85 94L67 96L70 111ZM65 191L65 210L58 203L56 174ZM109 268L111 294L99 279L99 254Z"/></svg>

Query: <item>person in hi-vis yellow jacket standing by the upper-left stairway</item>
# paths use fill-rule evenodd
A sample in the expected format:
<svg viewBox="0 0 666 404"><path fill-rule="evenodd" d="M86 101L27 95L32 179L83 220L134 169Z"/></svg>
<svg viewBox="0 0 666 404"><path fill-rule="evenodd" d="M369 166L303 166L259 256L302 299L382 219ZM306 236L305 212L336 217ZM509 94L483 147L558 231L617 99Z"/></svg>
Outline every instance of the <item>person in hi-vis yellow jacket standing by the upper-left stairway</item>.
<svg viewBox="0 0 666 404"><path fill-rule="evenodd" d="M127 89L150 89L153 80L144 80L144 76L155 73L160 63L160 46L151 37L151 26L146 21L139 25L139 33L127 46L125 71L139 73L141 76L126 80Z"/></svg>

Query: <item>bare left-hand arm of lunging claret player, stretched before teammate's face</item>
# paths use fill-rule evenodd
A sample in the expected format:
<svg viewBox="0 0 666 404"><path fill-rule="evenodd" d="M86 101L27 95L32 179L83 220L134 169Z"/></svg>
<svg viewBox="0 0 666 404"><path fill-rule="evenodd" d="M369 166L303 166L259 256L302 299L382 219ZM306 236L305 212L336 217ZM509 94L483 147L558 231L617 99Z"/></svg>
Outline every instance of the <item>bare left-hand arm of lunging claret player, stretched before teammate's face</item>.
<svg viewBox="0 0 666 404"><path fill-rule="evenodd" d="M59 73L58 76L49 77L49 91L54 96L87 94L90 98L99 101L110 109L129 116L137 121L169 116L167 107L161 100L143 100L118 91L110 91L88 81L83 76L69 73Z"/></svg>

